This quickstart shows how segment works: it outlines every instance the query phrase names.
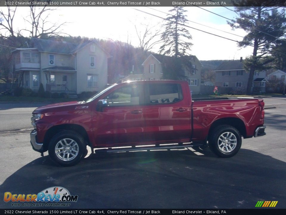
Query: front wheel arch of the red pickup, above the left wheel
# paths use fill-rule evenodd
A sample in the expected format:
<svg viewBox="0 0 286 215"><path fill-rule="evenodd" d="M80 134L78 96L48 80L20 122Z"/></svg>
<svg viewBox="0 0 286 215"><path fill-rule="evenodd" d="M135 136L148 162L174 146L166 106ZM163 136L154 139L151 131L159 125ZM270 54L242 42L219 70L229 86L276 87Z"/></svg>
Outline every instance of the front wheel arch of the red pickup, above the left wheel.
<svg viewBox="0 0 286 215"><path fill-rule="evenodd" d="M45 133L44 142L43 142L43 147L44 147L45 151L48 150L49 142L53 138L53 136L55 136L55 134L57 134L63 130L70 130L70 131L74 131L76 133L79 133L85 139L86 144L90 145L90 140L89 140L88 134L86 132L86 129L83 128L81 125L77 125L77 124L55 125L55 126L52 126L51 128L49 128L49 130L47 130Z"/></svg>

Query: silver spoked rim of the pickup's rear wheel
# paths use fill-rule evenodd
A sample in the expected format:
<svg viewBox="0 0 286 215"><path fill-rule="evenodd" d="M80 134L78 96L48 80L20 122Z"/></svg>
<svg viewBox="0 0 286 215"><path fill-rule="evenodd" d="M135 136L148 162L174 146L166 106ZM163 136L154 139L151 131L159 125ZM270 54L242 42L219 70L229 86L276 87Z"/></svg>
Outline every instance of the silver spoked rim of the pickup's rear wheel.
<svg viewBox="0 0 286 215"><path fill-rule="evenodd" d="M223 153L232 152L237 145L237 138L231 132L224 132L218 138L217 145Z"/></svg>

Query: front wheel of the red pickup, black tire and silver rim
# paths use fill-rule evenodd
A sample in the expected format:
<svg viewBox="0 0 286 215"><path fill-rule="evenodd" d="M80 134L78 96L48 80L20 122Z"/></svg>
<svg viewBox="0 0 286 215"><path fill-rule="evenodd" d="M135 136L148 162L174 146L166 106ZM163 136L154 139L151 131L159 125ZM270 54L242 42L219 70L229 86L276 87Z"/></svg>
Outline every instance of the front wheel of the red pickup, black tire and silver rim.
<svg viewBox="0 0 286 215"><path fill-rule="evenodd" d="M85 154L84 138L74 131L61 131L49 143L49 156L60 166L74 166Z"/></svg>

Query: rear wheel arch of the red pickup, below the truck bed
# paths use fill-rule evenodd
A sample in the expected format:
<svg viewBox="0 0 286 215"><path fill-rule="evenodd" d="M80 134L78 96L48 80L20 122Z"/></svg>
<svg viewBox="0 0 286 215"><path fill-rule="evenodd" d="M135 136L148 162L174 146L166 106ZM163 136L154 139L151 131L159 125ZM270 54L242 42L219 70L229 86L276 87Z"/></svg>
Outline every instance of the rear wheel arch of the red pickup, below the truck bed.
<svg viewBox="0 0 286 215"><path fill-rule="evenodd" d="M214 130L219 125L230 125L230 126L236 128L240 132L240 134L243 136L243 138L246 138L245 124L239 118L228 117L228 118L221 118L221 119L215 120L212 123L211 127L209 128L209 134L212 132L212 130Z"/></svg>

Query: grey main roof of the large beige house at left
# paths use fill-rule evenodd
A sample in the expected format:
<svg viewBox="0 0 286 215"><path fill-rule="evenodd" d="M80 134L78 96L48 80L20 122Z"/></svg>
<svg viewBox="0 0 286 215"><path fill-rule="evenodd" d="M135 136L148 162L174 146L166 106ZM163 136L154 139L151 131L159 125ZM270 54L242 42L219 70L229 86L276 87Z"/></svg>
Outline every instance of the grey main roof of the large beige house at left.
<svg viewBox="0 0 286 215"><path fill-rule="evenodd" d="M45 40L38 38L32 38L32 43L33 46L38 48L39 51L64 53L64 54L72 53L72 50L74 50L78 46L78 44L74 43Z"/></svg>

